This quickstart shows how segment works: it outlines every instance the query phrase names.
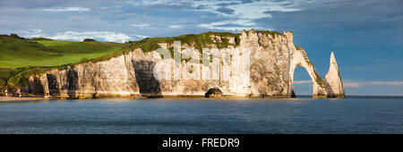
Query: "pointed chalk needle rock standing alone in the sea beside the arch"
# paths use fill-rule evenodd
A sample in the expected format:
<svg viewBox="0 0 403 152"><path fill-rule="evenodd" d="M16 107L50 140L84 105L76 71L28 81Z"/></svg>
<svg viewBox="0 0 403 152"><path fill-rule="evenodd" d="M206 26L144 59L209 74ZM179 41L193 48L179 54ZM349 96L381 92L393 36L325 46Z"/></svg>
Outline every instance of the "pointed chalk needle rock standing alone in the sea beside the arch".
<svg viewBox="0 0 403 152"><path fill-rule="evenodd" d="M331 52L330 55L329 72L326 74L324 81L328 97L346 97L344 94L343 83L340 78L339 66L333 52Z"/></svg>

